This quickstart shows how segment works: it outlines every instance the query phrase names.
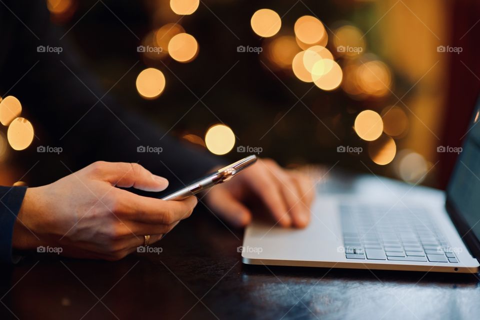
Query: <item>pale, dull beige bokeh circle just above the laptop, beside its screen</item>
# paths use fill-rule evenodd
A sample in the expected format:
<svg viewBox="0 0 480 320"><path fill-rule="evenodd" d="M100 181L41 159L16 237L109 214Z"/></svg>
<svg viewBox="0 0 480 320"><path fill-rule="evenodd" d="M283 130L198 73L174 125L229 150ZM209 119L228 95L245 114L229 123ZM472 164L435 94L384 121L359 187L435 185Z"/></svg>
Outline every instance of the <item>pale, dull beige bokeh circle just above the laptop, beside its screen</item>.
<svg viewBox="0 0 480 320"><path fill-rule="evenodd" d="M425 158L411 150L402 150L398 157L398 176L405 182L422 182L428 172L428 163Z"/></svg>

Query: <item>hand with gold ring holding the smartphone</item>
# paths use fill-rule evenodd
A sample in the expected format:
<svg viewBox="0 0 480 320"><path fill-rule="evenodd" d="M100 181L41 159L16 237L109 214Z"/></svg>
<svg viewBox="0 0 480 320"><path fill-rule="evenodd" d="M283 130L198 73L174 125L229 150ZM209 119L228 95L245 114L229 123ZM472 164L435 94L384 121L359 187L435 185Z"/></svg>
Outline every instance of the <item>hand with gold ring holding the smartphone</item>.
<svg viewBox="0 0 480 320"><path fill-rule="evenodd" d="M197 203L143 197L117 187L161 191L168 185L136 163L95 162L49 185L28 188L13 229L15 249L61 247L63 255L121 259L158 241Z"/></svg>

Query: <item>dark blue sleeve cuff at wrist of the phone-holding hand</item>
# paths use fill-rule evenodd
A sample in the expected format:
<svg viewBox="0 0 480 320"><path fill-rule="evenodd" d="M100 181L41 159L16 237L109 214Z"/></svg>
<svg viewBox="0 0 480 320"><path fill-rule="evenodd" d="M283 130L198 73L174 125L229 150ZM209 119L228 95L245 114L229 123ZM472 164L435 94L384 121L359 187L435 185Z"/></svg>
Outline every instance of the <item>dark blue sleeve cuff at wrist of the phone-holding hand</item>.
<svg viewBox="0 0 480 320"><path fill-rule="evenodd" d="M13 263L11 255L11 238L13 224L25 196L26 187L0 186L0 263Z"/></svg>

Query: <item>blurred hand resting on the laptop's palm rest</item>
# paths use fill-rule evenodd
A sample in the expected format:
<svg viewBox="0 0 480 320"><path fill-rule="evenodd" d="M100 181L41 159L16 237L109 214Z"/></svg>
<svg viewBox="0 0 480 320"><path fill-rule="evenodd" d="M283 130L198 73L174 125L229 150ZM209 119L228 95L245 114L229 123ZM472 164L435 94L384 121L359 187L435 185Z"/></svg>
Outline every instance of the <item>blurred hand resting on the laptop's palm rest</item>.
<svg viewBox="0 0 480 320"><path fill-rule="evenodd" d="M207 191L205 202L240 227L251 220L251 211L243 203L260 200L279 225L302 228L310 220L314 195L312 182L302 173L285 170L270 159L258 159L238 176Z"/></svg>

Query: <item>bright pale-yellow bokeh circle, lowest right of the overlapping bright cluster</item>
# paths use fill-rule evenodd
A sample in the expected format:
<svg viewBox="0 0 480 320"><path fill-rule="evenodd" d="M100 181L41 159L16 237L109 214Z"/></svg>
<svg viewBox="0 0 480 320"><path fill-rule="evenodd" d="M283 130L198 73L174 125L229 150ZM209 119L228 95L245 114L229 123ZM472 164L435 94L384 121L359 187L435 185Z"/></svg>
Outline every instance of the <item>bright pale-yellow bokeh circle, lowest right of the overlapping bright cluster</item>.
<svg viewBox="0 0 480 320"><path fill-rule="evenodd" d="M333 60L323 59L315 63L312 69L313 83L320 89L331 91L338 88L343 78L340 66Z"/></svg>

